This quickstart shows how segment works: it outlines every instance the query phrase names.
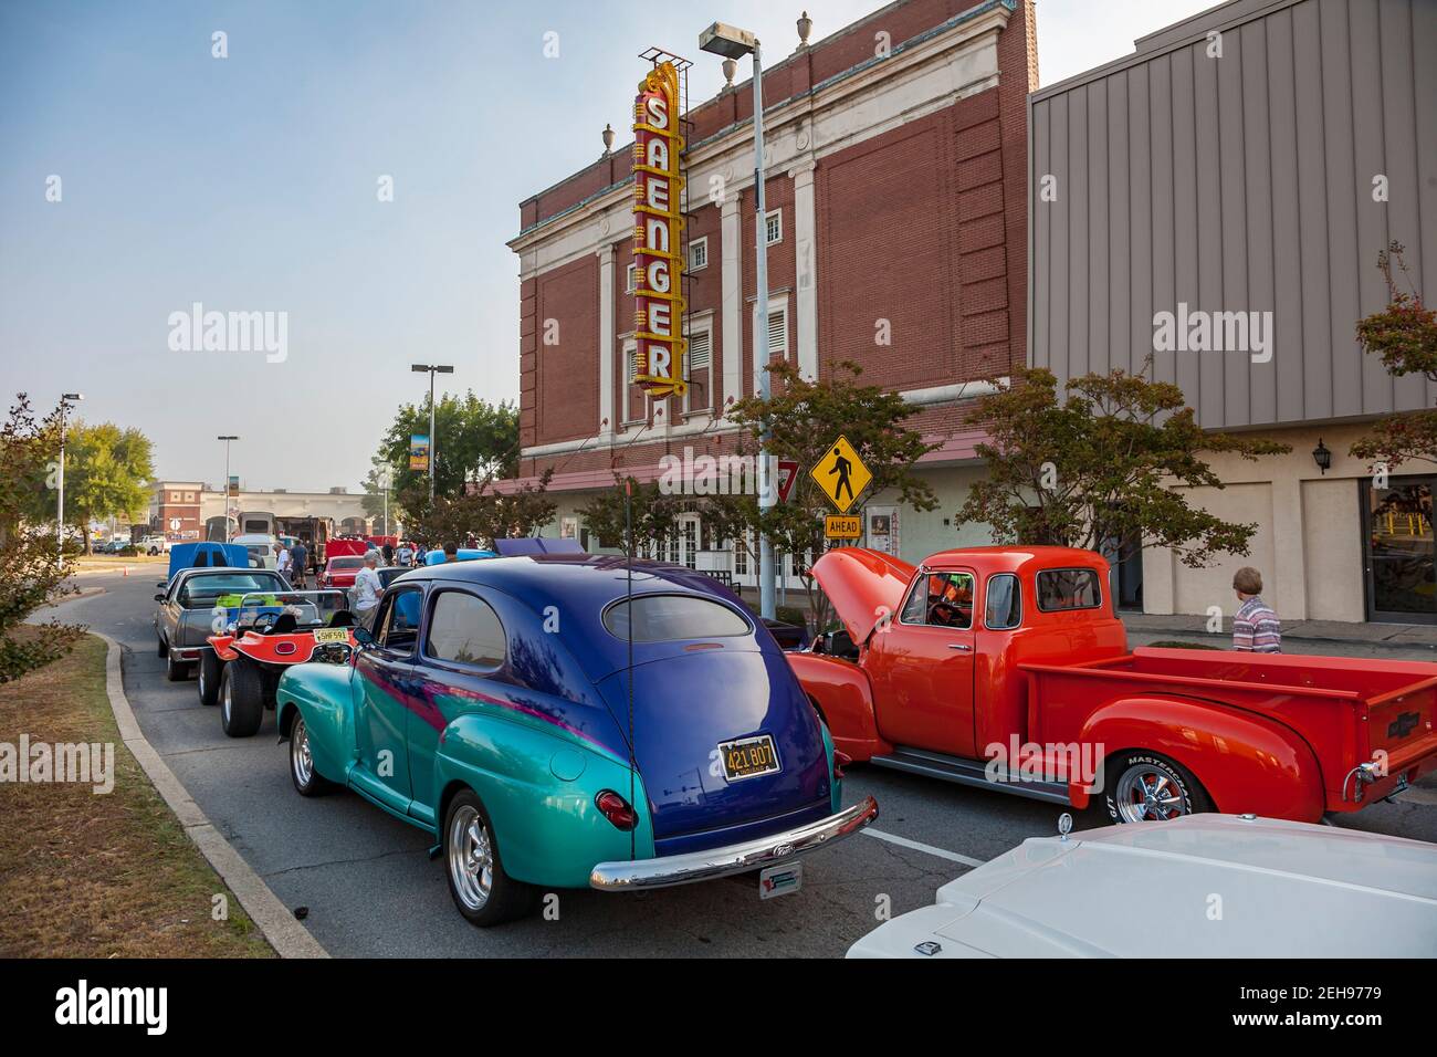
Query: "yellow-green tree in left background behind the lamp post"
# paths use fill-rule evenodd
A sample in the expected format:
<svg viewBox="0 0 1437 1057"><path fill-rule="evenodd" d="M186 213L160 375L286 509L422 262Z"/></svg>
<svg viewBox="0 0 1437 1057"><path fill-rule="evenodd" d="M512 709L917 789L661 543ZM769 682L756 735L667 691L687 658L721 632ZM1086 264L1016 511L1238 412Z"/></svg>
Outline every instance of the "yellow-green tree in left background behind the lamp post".
<svg viewBox="0 0 1437 1057"><path fill-rule="evenodd" d="M83 534L86 554L91 522L111 515L142 515L154 476L149 437L139 430L115 423L75 423L66 429L65 513Z"/></svg>

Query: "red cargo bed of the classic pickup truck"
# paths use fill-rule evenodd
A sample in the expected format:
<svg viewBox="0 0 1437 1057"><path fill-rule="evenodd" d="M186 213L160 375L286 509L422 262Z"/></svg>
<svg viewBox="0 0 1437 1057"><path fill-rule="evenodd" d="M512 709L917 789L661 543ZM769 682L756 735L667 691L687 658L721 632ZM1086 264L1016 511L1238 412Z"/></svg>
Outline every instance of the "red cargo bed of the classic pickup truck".
<svg viewBox="0 0 1437 1057"><path fill-rule="evenodd" d="M1104 703L1161 693L1256 712L1296 731L1322 768L1328 810L1358 807L1351 771L1385 752L1387 795L1437 759L1437 676L1421 662L1137 649L1079 664L1020 664L1029 738L1072 733ZM1345 788L1344 788L1345 787Z"/></svg>

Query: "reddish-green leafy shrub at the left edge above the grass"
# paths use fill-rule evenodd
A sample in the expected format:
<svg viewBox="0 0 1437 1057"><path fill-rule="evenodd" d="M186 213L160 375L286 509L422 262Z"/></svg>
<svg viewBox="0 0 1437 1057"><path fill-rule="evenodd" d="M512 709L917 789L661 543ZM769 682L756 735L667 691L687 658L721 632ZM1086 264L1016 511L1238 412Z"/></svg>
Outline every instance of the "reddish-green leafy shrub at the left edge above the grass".
<svg viewBox="0 0 1437 1057"><path fill-rule="evenodd" d="M55 467L60 449L60 408L37 417L24 393L16 395L0 426L0 683L63 657L85 631L49 620L16 634L30 614L73 594L60 568L53 511Z"/></svg>

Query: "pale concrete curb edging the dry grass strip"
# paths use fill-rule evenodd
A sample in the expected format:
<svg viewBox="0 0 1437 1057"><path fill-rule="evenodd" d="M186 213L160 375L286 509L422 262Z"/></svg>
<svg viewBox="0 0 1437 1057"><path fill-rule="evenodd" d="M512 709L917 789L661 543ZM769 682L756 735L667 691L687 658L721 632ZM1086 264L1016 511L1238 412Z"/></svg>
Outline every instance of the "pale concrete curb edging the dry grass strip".
<svg viewBox="0 0 1437 1057"><path fill-rule="evenodd" d="M320 946L313 935L295 920L295 915L280 902L269 884L254 873L249 863L234 850L234 846L224 838L210 818L194 802L185 791L175 772L161 758L155 748L145 738L135 720L135 710L125 696L125 685L121 674L119 643L101 631L92 631L96 639L103 639L108 646L105 654L105 692L109 695L109 708L115 713L115 725L119 728L119 738L125 748L131 751L149 782L164 798L170 810L175 813L190 840L195 843L200 853L210 861L220 879L230 887L240 906L259 928L260 935L279 952L280 958L329 958L329 952Z"/></svg>

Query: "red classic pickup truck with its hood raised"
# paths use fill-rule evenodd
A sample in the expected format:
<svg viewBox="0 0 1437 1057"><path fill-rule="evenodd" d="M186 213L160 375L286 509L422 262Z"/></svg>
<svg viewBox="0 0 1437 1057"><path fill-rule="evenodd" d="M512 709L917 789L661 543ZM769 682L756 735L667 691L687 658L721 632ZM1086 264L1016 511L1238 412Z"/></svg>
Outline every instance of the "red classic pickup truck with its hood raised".
<svg viewBox="0 0 1437 1057"><path fill-rule="evenodd" d="M983 546L912 567L829 551L844 631L789 660L854 761L1085 808L1318 821L1437 767L1437 664L1128 651L1091 551Z"/></svg>

